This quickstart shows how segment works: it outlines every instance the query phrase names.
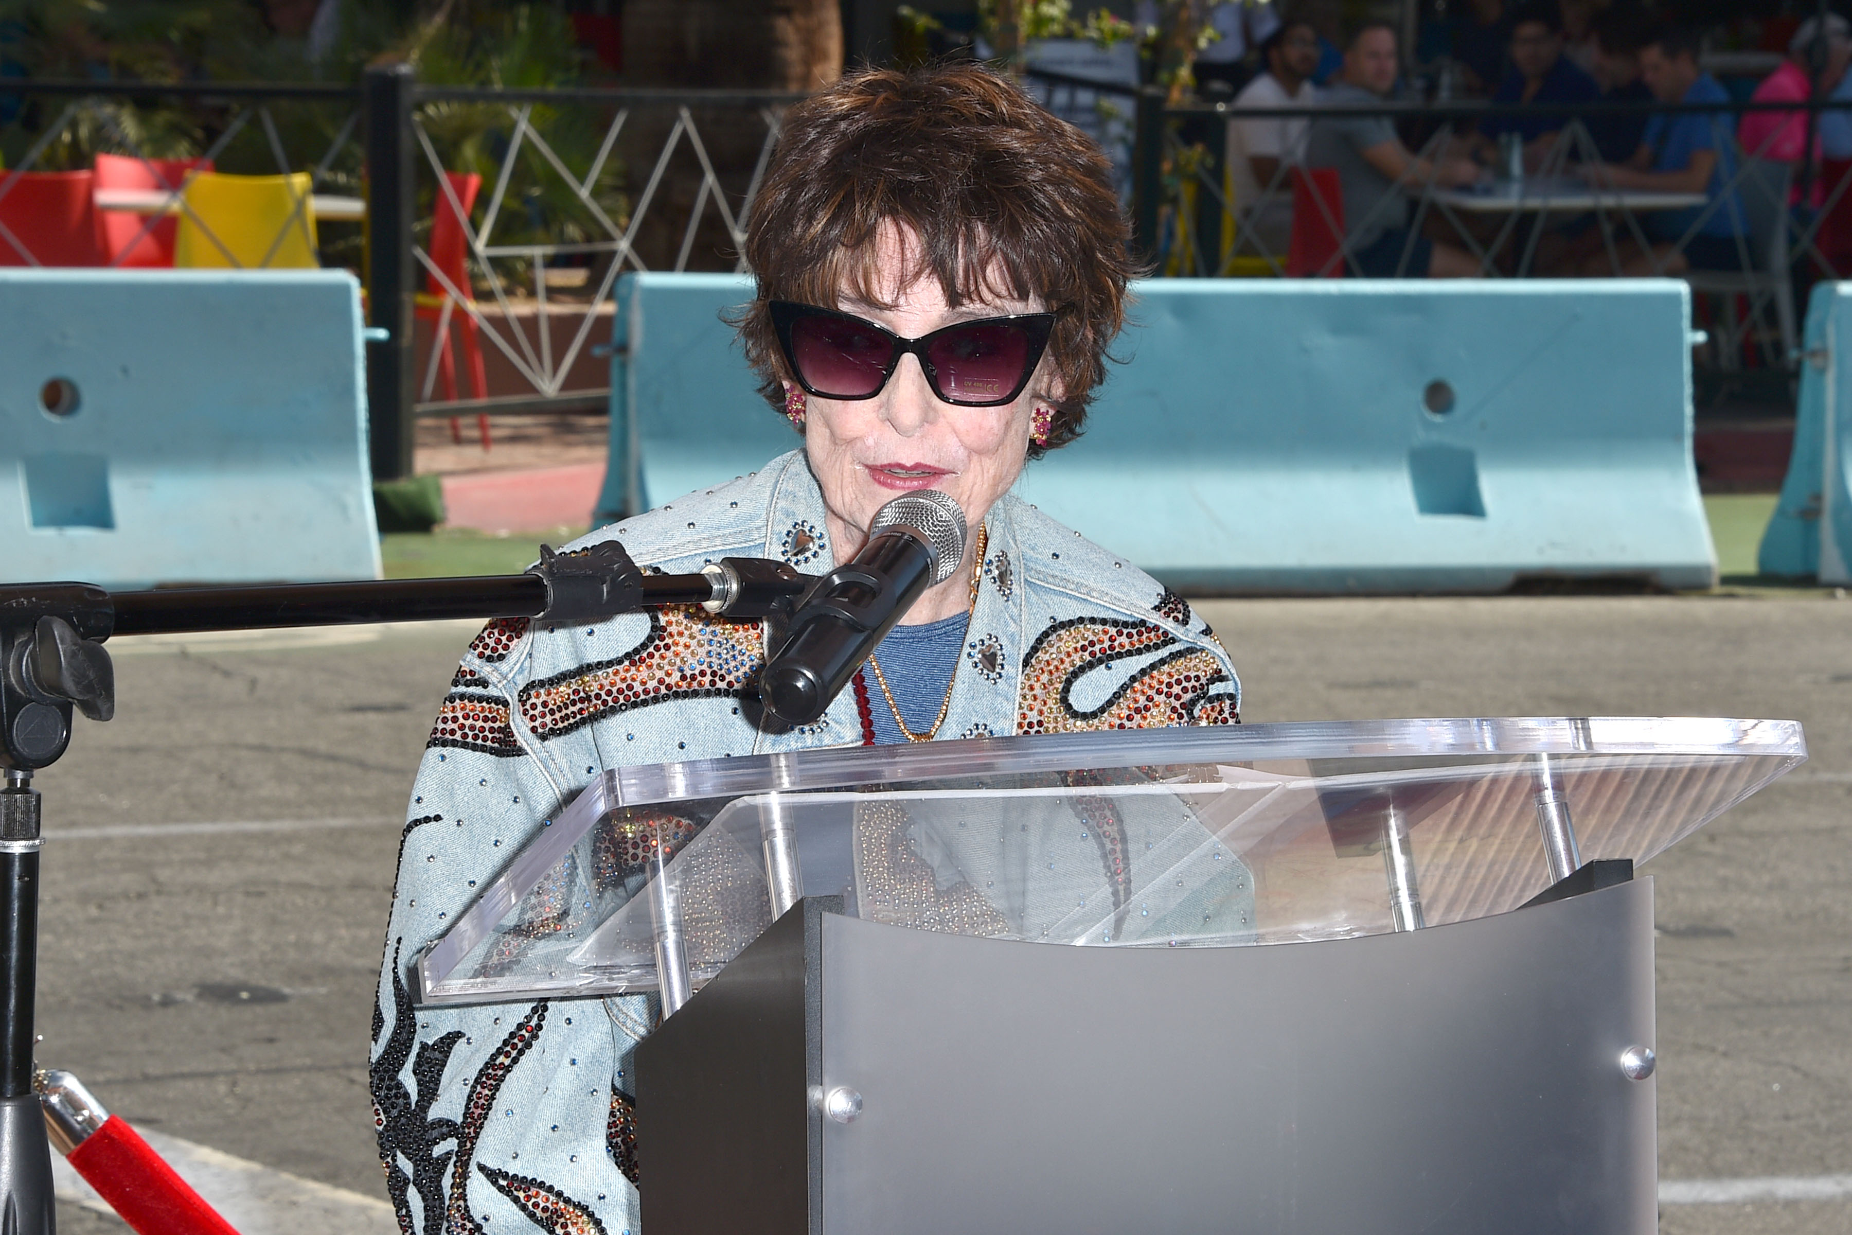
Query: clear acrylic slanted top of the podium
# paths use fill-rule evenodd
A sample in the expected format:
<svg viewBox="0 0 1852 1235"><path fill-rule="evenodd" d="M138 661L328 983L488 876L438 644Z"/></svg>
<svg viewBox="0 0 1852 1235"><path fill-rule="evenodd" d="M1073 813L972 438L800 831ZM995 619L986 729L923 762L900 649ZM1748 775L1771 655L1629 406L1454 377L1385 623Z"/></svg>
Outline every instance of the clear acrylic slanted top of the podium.
<svg viewBox="0 0 1852 1235"><path fill-rule="evenodd" d="M1806 759L1793 720L1437 718L611 768L419 959L424 1002L700 985L796 896L1022 942L1245 946L1508 913ZM1565 837L1569 850L1565 852Z"/></svg>

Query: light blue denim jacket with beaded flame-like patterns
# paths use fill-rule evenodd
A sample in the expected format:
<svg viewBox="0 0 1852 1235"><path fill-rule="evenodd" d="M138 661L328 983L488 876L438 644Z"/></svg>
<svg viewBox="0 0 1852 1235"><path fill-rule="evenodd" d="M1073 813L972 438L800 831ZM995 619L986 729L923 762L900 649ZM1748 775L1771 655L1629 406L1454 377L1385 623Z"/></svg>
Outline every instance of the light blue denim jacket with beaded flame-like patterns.
<svg viewBox="0 0 1852 1235"><path fill-rule="evenodd" d="M1180 596L1013 496L985 530L943 735L1239 722L1233 667ZM576 546L609 537L667 572L728 555L832 565L802 452ZM372 1022L374 1124L402 1229L637 1235L632 1068L656 998L413 1007L409 970L600 768L863 741L854 691L817 724L752 726L741 696L765 639L757 622L691 607L570 630L496 620L470 642L413 785Z"/></svg>

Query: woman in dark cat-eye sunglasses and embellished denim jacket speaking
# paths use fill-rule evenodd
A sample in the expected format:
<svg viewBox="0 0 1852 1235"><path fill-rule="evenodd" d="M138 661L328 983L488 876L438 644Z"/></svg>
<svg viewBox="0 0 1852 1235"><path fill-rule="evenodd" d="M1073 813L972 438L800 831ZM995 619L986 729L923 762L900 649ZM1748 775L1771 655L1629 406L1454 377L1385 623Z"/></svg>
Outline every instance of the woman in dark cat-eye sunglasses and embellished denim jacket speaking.
<svg viewBox="0 0 1852 1235"><path fill-rule="evenodd" d="M845 78L785 117L746 257L741 337L800 448L587 543L669 572L722 555L820 572L885 502L932 487L965 511L965 563L785 731L754 724L756 622L511 620L470 644L413 787L374 1018L406 1229L637 1231L632 1055L654 998L407 994L417 954L600 768L1237 720L1228 655L1183 600L1009 494L1080 435L1124 318L1126 226L1085 137L976 67Z"/></svg>

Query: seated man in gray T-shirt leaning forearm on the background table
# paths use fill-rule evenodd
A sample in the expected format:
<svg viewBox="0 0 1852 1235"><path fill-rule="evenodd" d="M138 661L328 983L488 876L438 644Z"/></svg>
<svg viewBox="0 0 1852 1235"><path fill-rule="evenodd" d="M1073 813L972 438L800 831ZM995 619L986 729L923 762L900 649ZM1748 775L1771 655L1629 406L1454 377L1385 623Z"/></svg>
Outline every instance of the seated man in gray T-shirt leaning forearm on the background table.
<svg viewBox="0 0 1852 1235"><path fill-rule="evenodd" d="M1387 22L1367 22L1350 37L1345 72L1319 102L1382 106L1395 80L1395 30ZM1470 159L1435 163L1409 154L1389 117L1320 117L1306 143L1306 165L1337 168L1345 194L1345 246L1350 265L1363 278L1470 278L1480 272L1478 261L1465 250L1408 230L1408 191L1430 183L1472 183L1480 168ZM1295 202L1295 209L1319 209L1319 204Z"/></svg>

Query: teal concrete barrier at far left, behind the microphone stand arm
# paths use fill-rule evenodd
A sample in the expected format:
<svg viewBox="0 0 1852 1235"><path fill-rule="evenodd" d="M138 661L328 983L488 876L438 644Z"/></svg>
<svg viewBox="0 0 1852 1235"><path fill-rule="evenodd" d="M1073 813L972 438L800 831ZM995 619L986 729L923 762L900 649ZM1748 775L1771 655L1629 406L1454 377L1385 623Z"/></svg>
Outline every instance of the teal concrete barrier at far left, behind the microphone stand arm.
<svg viewBox="0 0 1852 1235"><path fill-rule="evenodd" d="M343 270L0 270L0 580L380 576Z"/></svg>

